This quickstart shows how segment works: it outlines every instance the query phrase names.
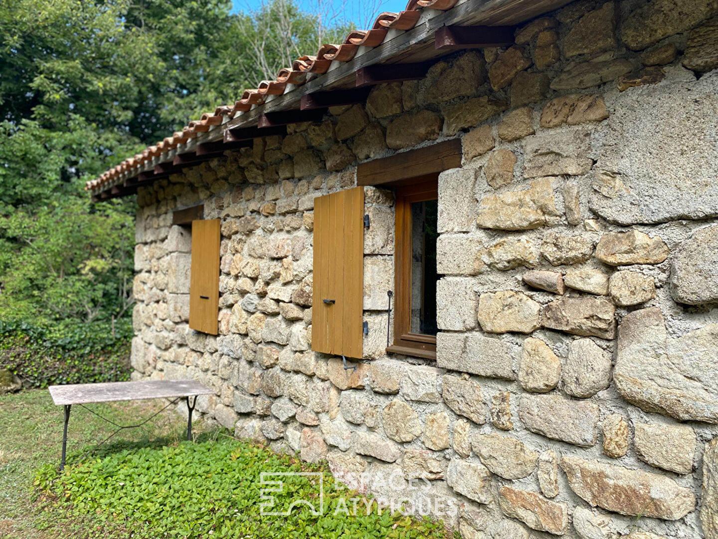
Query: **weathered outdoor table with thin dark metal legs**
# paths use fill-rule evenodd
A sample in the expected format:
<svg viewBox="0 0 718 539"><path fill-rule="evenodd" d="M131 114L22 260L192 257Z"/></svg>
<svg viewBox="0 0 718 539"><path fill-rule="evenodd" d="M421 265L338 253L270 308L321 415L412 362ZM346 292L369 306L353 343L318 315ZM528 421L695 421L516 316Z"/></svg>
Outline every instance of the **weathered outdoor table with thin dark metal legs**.
<svg viewBox="0 0 718 539"><path fill-rule="evenodd" d="M65 469L65 453L67 452L67 423L70 421L70 407L72 405L80 405L85 407L86 404L93 402L115 402L121 400L143 400L143 399L173 399L167 406L159 410L159 412L147 418L138 425L118 425L111 420L103 418L98 413L85 407L91 413L112 423L117 430L110 436L105 438L99 445L102 445L110 438L116 435L120 430L125 428L141 427L147 421L154 418L167 407L172 406L178 400L184 398L187 401L187 440L192 439L192 411L195 410L198 395L214 395L214 390L210 390L200 382L195 380L151 380L149 382L106 382L103 384L70 384L70 385L51 385L49 388L52 401L55 405L65 407L65 425L62 428L62 459L60 459L60 470ZM190 397L192 405L190 405Z"/></svg>

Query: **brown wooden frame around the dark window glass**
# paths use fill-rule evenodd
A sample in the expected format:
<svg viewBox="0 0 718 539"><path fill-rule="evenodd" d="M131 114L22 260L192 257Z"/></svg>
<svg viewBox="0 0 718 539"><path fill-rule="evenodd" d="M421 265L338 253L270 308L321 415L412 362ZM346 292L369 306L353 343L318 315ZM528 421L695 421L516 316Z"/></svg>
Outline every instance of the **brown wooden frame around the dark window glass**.
<svg viewBox="0 0 718 539"><path fill-rule="evenodd" d="M438 178L396 189L394 339L386 348L391 354L437 359L436 336L411 333L411 203L438 200Z"/></svg>

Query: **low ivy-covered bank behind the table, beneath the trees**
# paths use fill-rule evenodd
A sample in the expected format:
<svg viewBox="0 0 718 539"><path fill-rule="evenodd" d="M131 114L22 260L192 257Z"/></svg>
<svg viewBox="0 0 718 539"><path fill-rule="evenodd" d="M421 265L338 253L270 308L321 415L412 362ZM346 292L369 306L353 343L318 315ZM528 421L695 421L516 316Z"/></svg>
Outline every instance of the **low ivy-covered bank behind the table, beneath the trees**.
<svg viewBox="0 0 718 539"><path fill-rule="evenodd" d="M34 326L0 321L0 366L22 378L24 387L129 379L131 323Z"/></svg>

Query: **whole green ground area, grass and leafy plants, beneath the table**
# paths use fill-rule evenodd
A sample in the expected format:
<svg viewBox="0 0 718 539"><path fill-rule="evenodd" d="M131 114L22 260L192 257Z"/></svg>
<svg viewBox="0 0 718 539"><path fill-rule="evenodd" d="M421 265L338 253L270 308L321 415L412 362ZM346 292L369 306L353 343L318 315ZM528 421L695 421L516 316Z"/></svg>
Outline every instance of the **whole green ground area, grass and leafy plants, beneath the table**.
<svg viewBox="0 0 718 539"><path fill-rule="evenodd" d="M151 415L154 401L94 405L116 423ZM46 391L0 397L0 538L427 538L443 539L442 525L361 506L324 466L309 466L229 433L197 425L195 441L182 441L185 423L169 411L143 431L126 430L79 462L111 425L73 407L64 473L57 464L62 411ZM297 505L289 516L261 514L262 472L313 472L282 479L271 511L294 500L325 509L312 515ZM321 473L320 483L317 472ZM271 478L275 479L275 478ZM345 507L349 507L349 511ZM347 512L350 514L347 515ZM449 535L450 537L451 535Z"/></svg>

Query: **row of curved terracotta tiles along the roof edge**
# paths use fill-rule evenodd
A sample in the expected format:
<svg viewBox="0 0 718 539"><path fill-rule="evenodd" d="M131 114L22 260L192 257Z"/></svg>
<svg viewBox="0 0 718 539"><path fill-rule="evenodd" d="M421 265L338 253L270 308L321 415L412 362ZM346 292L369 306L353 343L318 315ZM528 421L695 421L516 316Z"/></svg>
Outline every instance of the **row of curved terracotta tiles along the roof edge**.
<svg viewBox="0 0 718 539"><path fill-rule="evenodd" d="M386 38L389 29L409 30L419 21L422 8L439 10L451 9L457 0L409 0L406 9L399 13L385 11L379 14L374 24L367 30L350 32L339 45L322 45L317 55L304 55L294 60L292 67L282 68L276 75L276 80L262 80L259 87L245 90L242 97L233 105L218 106L213 112L202 114L199 120L190 121L181 132L174 132L162 142L154 144L134 157L124 160L120 165L104 172L95 180L85 185L88 190L103 190L113 185L120 175L131 173L149 160L163 155L185 144L187 140L197 136L198 133L208 132L211 126L223 124L224 118L233 118L240 112L249 111L253 105L264 103L266 96L281 95L289 84L300 86L307 82L307 73L327 73L333 61L348 62L353 60L358 48L377 47Z"/></svg>

